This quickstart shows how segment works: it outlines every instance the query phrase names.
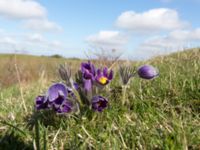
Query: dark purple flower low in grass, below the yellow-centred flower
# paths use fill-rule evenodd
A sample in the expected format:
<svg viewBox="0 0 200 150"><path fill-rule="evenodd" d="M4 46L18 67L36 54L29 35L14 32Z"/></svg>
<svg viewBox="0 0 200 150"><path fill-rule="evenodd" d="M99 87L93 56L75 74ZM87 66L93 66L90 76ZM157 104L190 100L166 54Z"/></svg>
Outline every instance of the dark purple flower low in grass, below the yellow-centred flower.
<svg viewBox="0 0 200 150"><path fill-rule="evenodd" d="M102 96L94 96L92 98L92 109L95 111L103 111L108 105L108 100Z"/></svg>

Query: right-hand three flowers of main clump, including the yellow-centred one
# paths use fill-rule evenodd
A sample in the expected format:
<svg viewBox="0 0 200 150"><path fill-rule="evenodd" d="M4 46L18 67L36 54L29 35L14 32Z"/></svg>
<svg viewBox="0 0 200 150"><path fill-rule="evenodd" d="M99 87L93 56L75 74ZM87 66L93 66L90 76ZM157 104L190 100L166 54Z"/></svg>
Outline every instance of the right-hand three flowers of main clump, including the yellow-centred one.
<svg viewBox="0 0 200 150"><path fill-rule="evenodd" d="M107 67L103 70L97 69L90 61L82 63L77 79L79 81L77 91L83 101L89 104L94 111L101 112L108 106L108 100L99 93L112 79L113 70L109 70Z"/></svg>

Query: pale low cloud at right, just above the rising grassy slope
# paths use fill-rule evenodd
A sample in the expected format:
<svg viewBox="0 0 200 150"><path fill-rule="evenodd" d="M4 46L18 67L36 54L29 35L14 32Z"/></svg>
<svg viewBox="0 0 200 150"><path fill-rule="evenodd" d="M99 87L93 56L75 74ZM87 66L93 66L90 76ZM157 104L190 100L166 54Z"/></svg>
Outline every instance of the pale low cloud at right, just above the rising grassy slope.
<svg viewBox="0 0 200 150"><path fill-rule="evenodd" d="M200 46L200 28L175 30L166 36L152 37L144 41L138 50L134 51L134 55L150 58L159 54L168 54L197 46Z"/></svg>

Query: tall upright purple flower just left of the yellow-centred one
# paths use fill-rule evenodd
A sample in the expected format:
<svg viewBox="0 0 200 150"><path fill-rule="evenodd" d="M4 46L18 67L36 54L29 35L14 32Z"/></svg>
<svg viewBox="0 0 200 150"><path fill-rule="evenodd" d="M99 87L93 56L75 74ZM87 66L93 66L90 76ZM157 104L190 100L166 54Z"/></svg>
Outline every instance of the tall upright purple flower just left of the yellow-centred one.
<svg viewBox="0 0 200 150"><path fill-rule="evenodd" d="M92 83L95 79L96 70L90 61L88 63L81 63L81 72L83 76L84 89L86 91L91 91Z"/></svg>

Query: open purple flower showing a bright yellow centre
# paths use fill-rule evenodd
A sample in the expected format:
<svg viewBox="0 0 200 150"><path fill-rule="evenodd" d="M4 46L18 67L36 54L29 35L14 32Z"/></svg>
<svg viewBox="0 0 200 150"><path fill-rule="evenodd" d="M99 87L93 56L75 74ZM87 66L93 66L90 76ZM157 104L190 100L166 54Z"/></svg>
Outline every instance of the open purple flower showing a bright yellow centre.
<svg viewBox="0 0 200 150"><path fill-rule="evenodd" d="M105 67L103 69L103 72L101 69L98 69L97 70L97 76L96 76L96 82L99 84L99 85L107 85L113 78L113 71L111 70L110 73L108 73L108 68Z"/></svg>

